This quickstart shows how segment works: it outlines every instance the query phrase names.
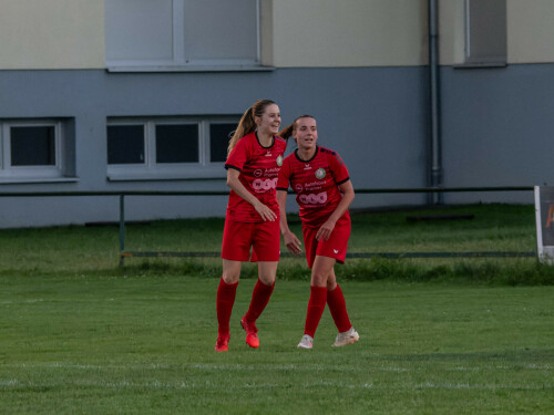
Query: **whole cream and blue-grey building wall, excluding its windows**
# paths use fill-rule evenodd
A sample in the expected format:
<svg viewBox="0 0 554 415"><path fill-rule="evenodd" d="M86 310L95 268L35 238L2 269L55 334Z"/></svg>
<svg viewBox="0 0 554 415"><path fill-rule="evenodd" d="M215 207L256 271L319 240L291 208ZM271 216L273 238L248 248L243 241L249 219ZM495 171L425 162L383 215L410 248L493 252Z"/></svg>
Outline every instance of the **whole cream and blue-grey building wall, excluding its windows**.
<svg viewBox="0 0 554 415"><path fill-rule="evenodd" d="M70 181L1 191L226 190L225 180L106 179L111 116L240 115L277 101L284 124L310 113L355 188L428 185L427 0L261 0L267 72L110 73L104 1L6 0L0 13L0 122L68 118ZM506 68L463 60L463 0L440 0L445 186L552 185L554 2L507 0ZM462 58L461 58L462 56ZM424 204L424 195L359 195L355 207ZM532 203L525 194L447 194L447 203ZM2 198L0 227L115 220L114 197ZM226 197L133 197L130 220L222 216ZM293 206L294 204L289 204Z"/></svg>

